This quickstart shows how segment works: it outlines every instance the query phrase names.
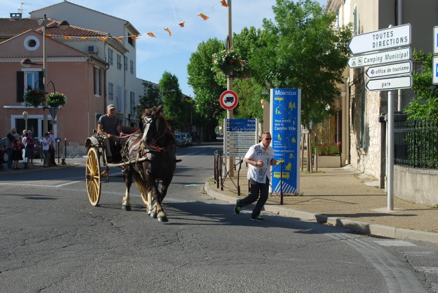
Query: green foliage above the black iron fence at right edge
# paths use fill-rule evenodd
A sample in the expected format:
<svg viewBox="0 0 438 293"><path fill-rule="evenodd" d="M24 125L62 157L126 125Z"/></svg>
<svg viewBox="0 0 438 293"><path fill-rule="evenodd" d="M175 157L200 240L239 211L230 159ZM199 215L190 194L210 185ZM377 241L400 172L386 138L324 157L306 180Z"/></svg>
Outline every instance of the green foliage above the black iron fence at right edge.
<svg viewBox="0 0 438 293"><path fill-rule="evenodd" d="M413 72L412 89L417 98L404 109L409 120L423 120L438 123L438 87L432 84L433 55L423 51L413 51L413 60L420 71Z"/></svg>

